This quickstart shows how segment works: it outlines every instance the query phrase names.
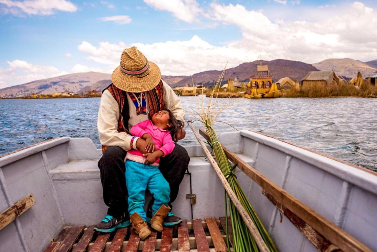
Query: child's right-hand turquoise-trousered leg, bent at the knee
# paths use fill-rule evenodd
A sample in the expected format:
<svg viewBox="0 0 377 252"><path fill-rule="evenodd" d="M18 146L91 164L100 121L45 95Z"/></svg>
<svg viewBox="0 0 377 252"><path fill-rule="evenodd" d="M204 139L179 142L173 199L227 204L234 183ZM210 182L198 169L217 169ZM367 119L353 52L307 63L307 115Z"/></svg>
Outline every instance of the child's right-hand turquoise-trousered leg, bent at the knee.
<svg viewBox="0 0 377 252"><path fill-rule="evenodd" d="M168 203L170 202L170 186L159 171L158 167L153 169L153 175L150 177L148 182L148 190L155 199L152 205L153 214L155 214L161 205L168 206Z"/></svg>

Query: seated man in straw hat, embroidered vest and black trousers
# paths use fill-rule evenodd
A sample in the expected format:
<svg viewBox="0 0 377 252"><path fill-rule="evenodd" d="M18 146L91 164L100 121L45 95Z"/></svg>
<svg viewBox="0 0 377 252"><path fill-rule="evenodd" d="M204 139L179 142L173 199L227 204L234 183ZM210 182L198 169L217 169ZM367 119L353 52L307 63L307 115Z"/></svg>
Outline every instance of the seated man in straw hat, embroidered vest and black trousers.
<svg viewBox="0 0 377 252"><path fill-rule="evenodd" d="M109 207L107 215L95 227L100 232L112 232L118 227L130 225L124 157L130 149L146 153L146 140L130 135L129 129L148 120L161 109L169 109L179 120L185 116L181 101L172 88L161 80L158 66L148 61L135 46L123 51L120 66L114 70L111 80L112 84L102 92L97 123L103 151L98 167L103 199ZM184 137L182 128L178 139ZM171 154L160 160L161 173L170 185L170 207L178 195L179 184L189 161L187 151L178 144L175 144ZM149 204L147 217L152 216L152 203ZM181 218L169 212L164 225L172 226L181 221Z"/></svg>

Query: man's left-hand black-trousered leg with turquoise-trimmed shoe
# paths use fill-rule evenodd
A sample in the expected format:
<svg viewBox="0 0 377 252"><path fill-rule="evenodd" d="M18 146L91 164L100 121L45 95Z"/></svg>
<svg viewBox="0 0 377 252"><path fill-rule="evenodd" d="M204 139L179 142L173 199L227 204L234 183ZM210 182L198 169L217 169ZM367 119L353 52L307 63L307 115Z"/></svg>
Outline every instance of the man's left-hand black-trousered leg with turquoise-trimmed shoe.
<svg viewBox="0 0 377 252"><path fill-rule="evenodd" d="M109 146L98 161L103 200L109 207L107 216L96 226L96 229L101 232L111 232L116 227L129 225L124 157L126 157L126 151L122 148ZM123 225L121 223L123 221L127 223Z"/></svg>

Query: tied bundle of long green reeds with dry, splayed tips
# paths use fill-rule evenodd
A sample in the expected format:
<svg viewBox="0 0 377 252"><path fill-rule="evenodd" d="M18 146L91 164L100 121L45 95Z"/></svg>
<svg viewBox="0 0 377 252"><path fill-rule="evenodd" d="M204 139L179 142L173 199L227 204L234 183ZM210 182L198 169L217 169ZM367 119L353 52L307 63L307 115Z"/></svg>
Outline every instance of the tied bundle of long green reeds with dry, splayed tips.
<svg viewBox="0 0 377 252"><path fill-rule="evenodd" d="M222 72L221 76L219 77L216 86L221 83L222 77L224 76L224 71ZM263 226L261 220L259 219L258 215L254 211L253 207L250 204L250 201L246 197L244 191L242 190L240 184L236 176L233 174L233 170L236 167L231 166L228 158L225 155L224 150L221 147L221 144L218 141L218 137L216 131L213 129L213 124L217 121L216 117L225 109L235 104L244 98L237 98L231 102L228 102L228 99L220 99L216 95L216 90L218 92L219 89L216 89L216 86L213 88L212 94L208 101L206 107L203 104L203 96L201 96L201 101L196 100L196 104L198 106L198 111L193 111L194 113L190 113L195 117L197 120L201 121L204 124L206 129L207 135L209 137L209 144L215 153L215 157L218 163L218 166L221 169L222 174L227 179L232 191L235 193L236 197L238 198L239 202L242 204L242 207L245 209L247 214L250 216L251 220L253 221L254 225L256 226L257 230L261 234L264 243L266 244L267 248L270 251L277 251L277 248L272 241L270 235L268 235L267 230ZM228 98L230 98L230 95ZM198 98L197 98L198 99ZM238 212L236 207L234 206L233 201L227 200L227 193L225 193L225 202L228 201L229 206L229 214L231 218L231 225L233 229L233 250L235 252L246 252L246 251L259 251L257 243L255 239L252 237L250 230L248 229L247 225L245 224L241 214ZM225 204L225 216L228 216L227 204ZM226 220L227 221L227 220ZM228 228L227 230L227 237L228 236ZM227 240L228 250L230 251L229 240Z"/></svg>

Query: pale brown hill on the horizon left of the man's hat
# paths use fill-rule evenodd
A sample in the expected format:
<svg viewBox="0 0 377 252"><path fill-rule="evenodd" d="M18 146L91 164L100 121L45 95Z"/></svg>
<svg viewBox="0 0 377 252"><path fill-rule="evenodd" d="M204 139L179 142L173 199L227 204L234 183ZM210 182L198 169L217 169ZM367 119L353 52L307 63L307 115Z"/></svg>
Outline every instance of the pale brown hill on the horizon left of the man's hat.
<svg viewBox="0 0 377 252"><path fill-rule="evenodd" d="M0 89L0 97L12 98L32 93L53 94L64 91L79 93L81 90L92 88L92 85L99 80L109 80L110 76L100 72L66 74Z"/></svg>

